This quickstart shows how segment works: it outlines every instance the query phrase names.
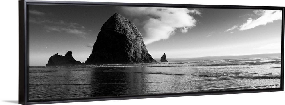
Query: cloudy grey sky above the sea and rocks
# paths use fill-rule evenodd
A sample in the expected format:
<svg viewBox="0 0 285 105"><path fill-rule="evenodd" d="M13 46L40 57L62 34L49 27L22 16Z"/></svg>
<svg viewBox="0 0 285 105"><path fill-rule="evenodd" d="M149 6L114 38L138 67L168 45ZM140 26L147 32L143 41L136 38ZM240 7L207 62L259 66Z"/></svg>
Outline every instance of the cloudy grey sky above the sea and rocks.
<svg viewBox="0 0 285 105"><path fill-rule="evenodd" d="M281 10L28 5L27 11L30 66L69 50L85 62L115 13L135 24L153 58L281 53Z"/></svg>

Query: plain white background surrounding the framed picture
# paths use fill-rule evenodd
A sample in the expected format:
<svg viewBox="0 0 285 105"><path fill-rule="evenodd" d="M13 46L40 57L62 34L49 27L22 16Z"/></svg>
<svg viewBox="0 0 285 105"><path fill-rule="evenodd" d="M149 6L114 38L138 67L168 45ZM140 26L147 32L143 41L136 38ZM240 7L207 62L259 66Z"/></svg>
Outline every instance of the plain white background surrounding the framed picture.
<svg viewBox="0 0 285 105"><path fill-rule="evenodd" d="M281 0L57 0L129 3L170 3L203 5L285 6ZM0 105L18 103L18 0L0 1ZM186 96L97 102L75 102L50 105L276 105L284 104L285 92L245 93L229 95Z"/></svg>

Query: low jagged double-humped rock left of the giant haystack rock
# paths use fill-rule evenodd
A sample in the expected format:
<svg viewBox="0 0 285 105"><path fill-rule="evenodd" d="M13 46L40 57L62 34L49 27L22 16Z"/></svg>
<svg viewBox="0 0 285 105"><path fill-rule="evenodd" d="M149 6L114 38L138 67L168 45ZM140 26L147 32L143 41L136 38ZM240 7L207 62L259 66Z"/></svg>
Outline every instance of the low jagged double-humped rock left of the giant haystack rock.
<svg viewBox="0 0 285 105"><path fill-rule="evenodd" d="M76 61L72 57L72 52L68 51L65 56L58 55L58 53L48 59L48 64L46 66L68 66L68 65L80 65L80 61Z"/></svg>

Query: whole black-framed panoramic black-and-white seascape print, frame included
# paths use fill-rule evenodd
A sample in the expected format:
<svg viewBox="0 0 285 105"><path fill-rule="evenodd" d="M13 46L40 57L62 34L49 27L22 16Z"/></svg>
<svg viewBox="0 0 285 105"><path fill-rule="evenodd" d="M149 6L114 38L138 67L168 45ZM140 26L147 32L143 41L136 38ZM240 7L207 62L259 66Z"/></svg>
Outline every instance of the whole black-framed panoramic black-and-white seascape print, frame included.
<svg viewBox="0 0 285 105"><path fill-rule="evenodd" d="M19 1L19 104L283 86L284 7Z"/></svg>

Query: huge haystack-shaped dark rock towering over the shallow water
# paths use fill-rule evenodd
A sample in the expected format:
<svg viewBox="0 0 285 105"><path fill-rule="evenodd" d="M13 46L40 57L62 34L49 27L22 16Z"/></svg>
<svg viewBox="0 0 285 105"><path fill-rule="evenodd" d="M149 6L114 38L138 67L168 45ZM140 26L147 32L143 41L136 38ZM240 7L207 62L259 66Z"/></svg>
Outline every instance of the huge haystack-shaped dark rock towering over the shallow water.
<svg viewBox="0 0 285 105"><path fill-rule="evenodd" d="M148 53L137 27L115 13L101 27L86 64L157 62Z"/></svg>

